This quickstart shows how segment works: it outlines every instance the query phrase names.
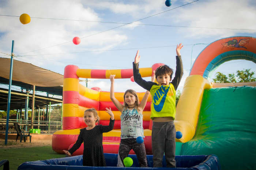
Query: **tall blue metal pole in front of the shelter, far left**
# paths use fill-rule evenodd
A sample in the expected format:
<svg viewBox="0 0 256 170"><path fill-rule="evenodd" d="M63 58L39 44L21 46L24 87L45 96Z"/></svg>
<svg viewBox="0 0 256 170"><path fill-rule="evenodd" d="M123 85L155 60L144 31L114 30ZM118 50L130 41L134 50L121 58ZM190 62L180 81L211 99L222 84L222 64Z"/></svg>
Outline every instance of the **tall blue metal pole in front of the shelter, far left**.
<svg viewBox="0 0 256 170"><path fill-rule="evenodd" d="M12 53L11 53L11 65L10 65L8 104L7 104L7 115L6 115L6 130L5 130L5 141L4 141L4 144L5 144L5 145L7 145L8 130L9 130L9 115L10 115L11 86L12 86L12 65L13 65L13 56L14 56L13 50L14 50L14 40L12 40Z"/></svg>

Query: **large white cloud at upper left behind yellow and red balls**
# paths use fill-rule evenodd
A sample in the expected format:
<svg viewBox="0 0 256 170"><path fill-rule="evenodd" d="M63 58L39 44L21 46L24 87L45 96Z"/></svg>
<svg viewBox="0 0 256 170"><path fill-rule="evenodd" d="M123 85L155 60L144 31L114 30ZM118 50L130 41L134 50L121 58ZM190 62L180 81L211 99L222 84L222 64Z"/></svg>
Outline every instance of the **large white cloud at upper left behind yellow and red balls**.
<svg viewBox="0 0 256 170"><path fill-rule="evenodd" d="M12 11L10 13L10 11ZM29 24L23 25L19 17L0 16L0 52L10 53L11 40L15 40L14 53L20 54L18 60L32 63L39 67L49 68L50 65L65 67L67 63L58 63L51 60L70 60L78 58L75 54L63 54L79 51L109 50L120 43L125 43L127 36L115 30L100 33L105 28L97 22L67 21L36 19L33 17L72 19L85 21L101 20L91 8L85 7L82 1L55 0L55 1L5 1L0 7L0 13L19 16L27 13L31 17ZM72 43L73 37L81 38L79 45ZM89 36L89 37L86 37ZM83 38L86 37L86 38ZM91 48L93 47L93 48ZM96 48L95 48L96 47ZM40 50L42 49L42 50ZM36 50L36 51L34 51ZM29 55L29 56L27 56ZM44 60L45 59L45 60ZM59 71L60 72L60 71Z"/></svg>

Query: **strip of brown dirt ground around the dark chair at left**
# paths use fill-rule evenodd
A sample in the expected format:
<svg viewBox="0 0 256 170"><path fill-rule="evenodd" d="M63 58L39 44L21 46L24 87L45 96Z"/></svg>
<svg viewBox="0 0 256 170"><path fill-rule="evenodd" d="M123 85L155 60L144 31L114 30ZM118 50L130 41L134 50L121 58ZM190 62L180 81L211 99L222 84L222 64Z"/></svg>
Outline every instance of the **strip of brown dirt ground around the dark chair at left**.
<svg viewBox="0 0 256 170"><path fill-rule="evenodd" d="M29 142L29 138L27 138L26 142L18 140L15 142L15 139L8 139L7 140L7 145L5 145L5 139L0 139L0 149L4 148L15 148L15 147L37 147L37 146L51 146L52 145L52 140L42 140L42 141L32 141L31 143Z"/></svg>

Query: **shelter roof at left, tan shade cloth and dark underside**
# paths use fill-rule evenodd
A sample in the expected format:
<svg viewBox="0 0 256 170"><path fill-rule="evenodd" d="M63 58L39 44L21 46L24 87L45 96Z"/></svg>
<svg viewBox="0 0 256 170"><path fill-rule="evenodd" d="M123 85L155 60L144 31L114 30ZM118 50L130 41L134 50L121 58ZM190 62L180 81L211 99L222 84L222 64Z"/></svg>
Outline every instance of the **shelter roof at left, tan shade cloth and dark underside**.
<svg viewBox="0 0 256 170"><path fill-rule="evenodd" d="M10 58L0 58L1 84L9 84L10 62ZM35 91L62 96L63 79L63 75L34 66L33 64L20 62L18 60L14 60L13 62L12 86L19 86L30 91L33 90L33 85L35 85ZM11 90L11 92L10 110L25 108L26 92L21 92L21 90ZM7 102L8 89L0 88L0 110L7 110ZM29 108L31 108L31 102L32 94L29 94ZM46 106L49 102L51 102L51 104L61 103L62 99L35 95L35 107Z"/></svg>

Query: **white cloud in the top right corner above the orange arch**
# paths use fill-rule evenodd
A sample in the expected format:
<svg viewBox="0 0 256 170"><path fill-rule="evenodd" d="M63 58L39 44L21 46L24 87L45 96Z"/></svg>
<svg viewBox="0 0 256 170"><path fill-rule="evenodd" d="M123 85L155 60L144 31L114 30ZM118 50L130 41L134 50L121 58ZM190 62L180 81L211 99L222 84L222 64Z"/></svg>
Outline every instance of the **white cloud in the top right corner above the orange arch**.
<svg viewBox="0 0 256 170"><path fill-rule="evenodd" d="M234 28L255 30L255 3L251 0L197 1L174 13L177 25L189 27ZM228 37L240 30L182 28L181 32L194 38L205 36ZM252 31L248 31L252 33Z"/></svg>

